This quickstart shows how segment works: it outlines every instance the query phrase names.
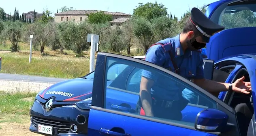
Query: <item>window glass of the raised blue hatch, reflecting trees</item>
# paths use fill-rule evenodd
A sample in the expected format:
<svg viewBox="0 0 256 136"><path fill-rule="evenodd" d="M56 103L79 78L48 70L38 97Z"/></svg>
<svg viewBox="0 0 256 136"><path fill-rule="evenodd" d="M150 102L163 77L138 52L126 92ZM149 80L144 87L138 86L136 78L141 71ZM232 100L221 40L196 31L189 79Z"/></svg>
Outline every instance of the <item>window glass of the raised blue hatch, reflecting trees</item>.
<svg viewBox="0 0 256 136"><path fill-rule="evenodd" d="M243 2L236 2L229 4L227 2L218 7L211 20L225 29L233 29L239 27L256 27L256 4L245 4Z"/></svg>

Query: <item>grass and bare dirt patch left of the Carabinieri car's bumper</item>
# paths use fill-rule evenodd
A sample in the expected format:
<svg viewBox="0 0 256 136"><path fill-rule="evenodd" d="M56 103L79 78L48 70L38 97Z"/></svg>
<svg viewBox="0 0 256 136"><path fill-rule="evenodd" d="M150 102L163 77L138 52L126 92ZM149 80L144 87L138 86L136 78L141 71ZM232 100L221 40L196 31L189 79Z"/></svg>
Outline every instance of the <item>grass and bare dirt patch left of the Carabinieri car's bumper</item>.
<svg viewBox="0 0 256 136"><path fill-rule="evenodd" d="M1 136L40 136L29 131L29 110L35 96L35 92L0 91Z"/></svg>

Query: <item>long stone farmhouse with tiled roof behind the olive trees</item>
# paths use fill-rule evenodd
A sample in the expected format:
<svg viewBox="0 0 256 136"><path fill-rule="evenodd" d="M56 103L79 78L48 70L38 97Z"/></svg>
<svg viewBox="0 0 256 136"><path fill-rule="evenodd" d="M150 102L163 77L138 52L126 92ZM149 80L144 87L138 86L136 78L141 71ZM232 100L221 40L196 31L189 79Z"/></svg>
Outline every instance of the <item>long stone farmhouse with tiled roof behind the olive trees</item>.
<svg viewBox="0 0 256 136"><path fill-rule="evenodd" d="M87 14L98 12L98 10L70 10L62 13L55 13L54 21L60 23L62 21L75 21L80 22L88 18ZM117 18L130 18L130 14L120 12L108 12L104 11L105 14L110 14L114 19Z"/></svg>

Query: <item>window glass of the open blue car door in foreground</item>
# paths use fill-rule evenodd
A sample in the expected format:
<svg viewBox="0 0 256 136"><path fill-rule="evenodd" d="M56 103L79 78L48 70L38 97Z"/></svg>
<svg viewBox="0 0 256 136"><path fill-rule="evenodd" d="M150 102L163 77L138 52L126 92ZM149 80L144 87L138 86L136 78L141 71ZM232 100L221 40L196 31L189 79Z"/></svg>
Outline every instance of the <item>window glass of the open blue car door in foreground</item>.
<svg viewBox="0 0 256 136"><path fill-rule="evenodd" d="M128 74L122 75L122 79L126 79L126 84L124 84L123 86L105 86L105 109L123 111L131 114L139 114L137 103L139 100L142 76L148 76L154 80L153 86L151 88L151 96L154 97L156 101L164 101L166 103L175 101L176 106L181 108L181 118L176 118L175 116L171 117L172 113L169 111L168 108L172 107L172 105L167 105L166 103L163 105L159 105L158 103L156 104L158 106L156 106L156 108L154 109L159 108L162 111L154 110L154 112L158 112L158 115L157 117L153 118L158 118L171 122L178 122L183 125L194 127L196 115L200 111L207 108L217 108L217 103L215 102L215 100L198 91L196 88L190 86L187 83L190 82L189 80L179 80L177 77L173 75L169 75L163 71L160 71L148 65L143 65L141 63L136 63L124 59L108 57L106 63L107 66L109 66L109 63L126 65L132 67L133 70ZM107 73L107 75L105 75L105 84L107 83L107 78L109 77L108 74L112 73L110 71L113 71L113 69L111 69L111 67L106 67L105 73ZM116 78L116 80L119 79ZM113 82L115 82L115 80ZM187 92L189 92L191 95L194 95L197 98L194 103L186 104L183 103L184 101L181 101L183 95L182 91L184 89L186 89Z"/></svg>

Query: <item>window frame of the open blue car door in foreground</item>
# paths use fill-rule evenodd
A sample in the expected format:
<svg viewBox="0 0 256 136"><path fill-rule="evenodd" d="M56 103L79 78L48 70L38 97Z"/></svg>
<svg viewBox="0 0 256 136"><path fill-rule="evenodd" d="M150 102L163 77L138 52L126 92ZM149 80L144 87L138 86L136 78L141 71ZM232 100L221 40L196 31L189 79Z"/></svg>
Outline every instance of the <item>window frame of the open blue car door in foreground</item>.
<svg viewBox="0 0 256 136"><path fill-rule="evenodd" d="M214 100L216 103L218 103L218 109L220 109L220 110L225 109L226 111L229 111L229 113L226 113L226 114L235 116L235 110L232 107L228 106L222 100L213 96L212 94L210 94L206 90L203 90L203 88L201 88L201 87L197 86L196 84L192 83L190 80L187 80L186 78L181 77L180 75L178 75L178 74L176 74L176 73L174 73L174 72L172 72L168 69L165 69L164 67L160 67L158 65L155 65L153 63L143 61L143 60L140 60L140 59L136 59L136 58L132 58L130 56L112 54L112 53L107 53L107 52L98 52L95 74L94 74L91 110L104 111L104 112L108 112L108 113L114 113L114 114L134 117L134 118L138 118L138 119L145 119L145 120L148 120L148 121L164 123L164 124L177 126L177 127L181 127L181 128L188 128L188 129L191 129L191 130L196 130L194 128L194 126L187 126L187 125L183 125L181 123L175 123L175 121L173 121L173 122L164 121L164 120L160 120L160 119L149 118L149 117L146 117L146 116L141 116L141 115L136 115L136 114L131 114L131 113L124 113L124 112L121 112L121 111L114 111L114 110L111 110L111 109L105 109L104 108L104 99L105 99L105 96L106 96L105 88L107 86L107 83L105 83L105 76L106 76L105 74L106 74L107 71L105 71L105 69L106 69L107 57L113 57L113 58L117 58L117 59L124 59L124 60L127 60L127 61L140 63L142 65L147 65L147 66L152 67L154 69L158 69L162 72L165 72L165 73L167 73L167 74L169 74L173 77L176 77L178 80L181 80L181 82L185 82L186 84L190 85L192 88L195 88L199 92L205 94L206 96L208 96L209 98ZM89 119L90 119L90 117L89 117ZM237 124L235 126L237 126ZM206 133L217 134L217 135L220 134L220 132L206 132Z"/></svg>

